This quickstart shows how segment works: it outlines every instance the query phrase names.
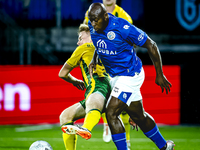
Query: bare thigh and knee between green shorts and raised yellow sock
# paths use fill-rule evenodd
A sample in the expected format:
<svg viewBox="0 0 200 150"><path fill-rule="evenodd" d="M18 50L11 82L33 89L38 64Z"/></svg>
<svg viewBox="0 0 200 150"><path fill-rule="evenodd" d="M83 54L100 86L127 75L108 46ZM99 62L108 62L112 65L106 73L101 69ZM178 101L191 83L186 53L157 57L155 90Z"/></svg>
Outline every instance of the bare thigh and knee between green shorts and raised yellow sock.
<svg viewBox="0 0 200 150"><path fill-rule="evenodd" d="M104 106L105 97L99 92L92 93L86 100L86 113L91 109L99 109L102 111Z"/></svg>

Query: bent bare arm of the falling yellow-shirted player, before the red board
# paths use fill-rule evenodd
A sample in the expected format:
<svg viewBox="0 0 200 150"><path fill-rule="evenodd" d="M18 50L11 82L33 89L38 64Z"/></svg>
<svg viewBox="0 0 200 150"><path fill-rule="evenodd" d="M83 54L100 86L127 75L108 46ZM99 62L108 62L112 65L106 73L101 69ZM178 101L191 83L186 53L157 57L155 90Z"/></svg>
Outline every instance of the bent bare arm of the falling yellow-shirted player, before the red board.
<svg viewBox="0 0 200 150"><path fill-rule="evenodd" d="M79 80L75 77L73 77L70 72L72 71L72 67L70 65L68 65L67 63L65 63L63 65L63 67L61 68L60 72L59 72L59 77L69 83L72 83L75 87L77 87L79 90L84 90L85 89L85 85L84 82L82 80Z"/></svg>

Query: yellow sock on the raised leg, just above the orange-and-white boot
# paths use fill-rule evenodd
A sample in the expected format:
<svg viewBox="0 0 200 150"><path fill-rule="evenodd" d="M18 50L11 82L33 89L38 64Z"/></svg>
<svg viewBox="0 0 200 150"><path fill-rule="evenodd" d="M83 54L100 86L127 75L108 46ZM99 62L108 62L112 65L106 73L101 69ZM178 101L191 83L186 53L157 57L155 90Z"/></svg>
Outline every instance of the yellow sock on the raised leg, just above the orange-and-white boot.
<svg viewBox="0 0 200 150"><path fill-rule="evenodd" d="M83 127L92 131L94 126L99 123L100 118L101 112L98 109L90 110L85 116Z"/></svg>

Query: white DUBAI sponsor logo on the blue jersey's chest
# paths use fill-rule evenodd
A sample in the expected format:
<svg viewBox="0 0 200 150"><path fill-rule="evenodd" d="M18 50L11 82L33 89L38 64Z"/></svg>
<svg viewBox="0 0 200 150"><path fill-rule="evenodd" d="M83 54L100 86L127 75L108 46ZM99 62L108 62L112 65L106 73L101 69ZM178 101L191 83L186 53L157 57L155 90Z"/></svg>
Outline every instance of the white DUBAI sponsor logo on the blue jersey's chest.
<svg viewBox="0 0 200 150"><path fill-rule="evenodd" d="M102 54L107 54L107 55L117 54L117 51L108 50L106 42L101 39L97 41L97 50L99 53L102 53Z"/></svg>

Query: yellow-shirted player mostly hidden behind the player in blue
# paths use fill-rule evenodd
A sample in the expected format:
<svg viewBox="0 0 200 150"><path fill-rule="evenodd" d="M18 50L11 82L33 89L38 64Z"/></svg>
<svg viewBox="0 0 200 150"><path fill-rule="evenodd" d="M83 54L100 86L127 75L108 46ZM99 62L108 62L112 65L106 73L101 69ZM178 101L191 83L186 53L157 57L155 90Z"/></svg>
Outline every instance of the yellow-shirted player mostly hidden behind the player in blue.
<svg viewBox="0 0 200 150"><path fill-rule="evenodd" d="M116 17L123 18L133 24L131 17L126 13L121 7L116 4L116 0L103 0L103 4L106 7L108 13L113 14ZM88 11L85 14L84 23L87 24L89 21ZM129 124L129 115L124 111L120 115L126 130L126 140L128 148L130 149L130 124ZM105 117L105 113L102 114L102 118L104 121L104 132L103 132L103 140L105 142L110 142L112 140L110 129L108 127L108 123Z"/></svg>

